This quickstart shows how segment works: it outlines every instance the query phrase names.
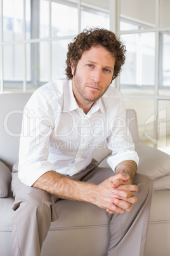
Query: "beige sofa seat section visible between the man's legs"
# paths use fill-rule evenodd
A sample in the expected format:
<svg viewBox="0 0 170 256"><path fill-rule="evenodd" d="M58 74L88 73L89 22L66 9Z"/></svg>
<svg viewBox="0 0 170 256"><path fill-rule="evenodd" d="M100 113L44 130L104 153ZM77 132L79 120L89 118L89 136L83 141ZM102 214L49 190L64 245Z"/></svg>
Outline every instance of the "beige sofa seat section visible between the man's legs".
<svg viewBox="0 0 170 256"><path fill-rule="evenodd" d="M41 255L103 256L106 254L109 224L108 213L105 210L99 210L95 204L69 200L58 201L56 210L58 220L51 223ZM50 248L56 249L49 253L49 245ZM57 254L56 250L60 253Z"/></svg>

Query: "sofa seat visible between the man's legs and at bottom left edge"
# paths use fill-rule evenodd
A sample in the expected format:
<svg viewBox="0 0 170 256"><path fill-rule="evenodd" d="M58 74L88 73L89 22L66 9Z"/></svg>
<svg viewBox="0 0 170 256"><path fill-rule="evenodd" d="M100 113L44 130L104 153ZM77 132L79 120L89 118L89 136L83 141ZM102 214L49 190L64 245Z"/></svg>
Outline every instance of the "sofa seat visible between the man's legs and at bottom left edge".
<svg viewBox="0 0 170 256"><path fill-rule="evenodd" d="M2 256L12 256L13 202L11 196L0 198L0 255ZM67 256L70 252L70 255L81 256L105 255L109 237L108 213L105 210L99 209L95 204L69 200L60 200L55 207L58 220L51 222L48 237L42 247L42 256ZM94 239L91 239L92 237ZM95 248L96 241L98 246Z"/></svg>

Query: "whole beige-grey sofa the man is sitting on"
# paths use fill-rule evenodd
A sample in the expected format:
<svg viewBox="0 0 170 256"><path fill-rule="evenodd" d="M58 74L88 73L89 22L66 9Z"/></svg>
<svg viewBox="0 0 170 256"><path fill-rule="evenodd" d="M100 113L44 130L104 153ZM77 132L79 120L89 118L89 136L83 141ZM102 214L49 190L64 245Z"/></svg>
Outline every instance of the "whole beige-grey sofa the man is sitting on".
<svg viewBox="0 0 170 256"><path fill-rule="evenodd" d="M22 110L26 93L0 94L0 255L12 255L11 167L18 160ZM138 172L155 181L145 256L170 255L170 156L139 141L134 110L127 110L130 131L140 157ZM94 158L107 166L110 151L97 150ZM42 247L42 256L105 256L108 222L105 211L88 203L62 200L56 203L59 215L51 223ZM96 213L96 214L95 214ZM78 246L77 246L78 245ZM123 255L117 255L123 256ZM136 255L138 256L138 255Z"/></svg>

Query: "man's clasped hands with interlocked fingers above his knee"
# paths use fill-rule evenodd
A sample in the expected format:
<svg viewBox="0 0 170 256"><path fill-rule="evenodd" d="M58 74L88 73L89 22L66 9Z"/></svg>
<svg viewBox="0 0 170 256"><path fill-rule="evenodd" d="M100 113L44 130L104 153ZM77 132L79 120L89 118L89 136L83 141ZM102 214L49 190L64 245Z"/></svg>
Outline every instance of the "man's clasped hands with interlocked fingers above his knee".
<svg viewBox="0 0 170 256"><path fill-rule="evenodd" d="M108 213L123 214L125 211L131 211L132 205L137 201L134 194L138 187L131 184L128 176L117 174L100 183L98 188L102 201L98 206L105 208Z"/></svg>

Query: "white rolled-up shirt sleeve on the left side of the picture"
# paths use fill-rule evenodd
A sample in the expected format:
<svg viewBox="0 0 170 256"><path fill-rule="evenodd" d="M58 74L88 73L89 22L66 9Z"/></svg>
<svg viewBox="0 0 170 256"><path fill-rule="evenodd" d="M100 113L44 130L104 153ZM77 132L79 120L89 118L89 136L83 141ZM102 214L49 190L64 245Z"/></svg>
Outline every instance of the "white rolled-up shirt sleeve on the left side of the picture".
<svg viewBox="0 0 170 256"><path fill-rule="evenodd" d="M53 131L53 109L44 93L34 93L23 110L18 177L30 187L55 166L48 161L49 137Z"/></svg>

